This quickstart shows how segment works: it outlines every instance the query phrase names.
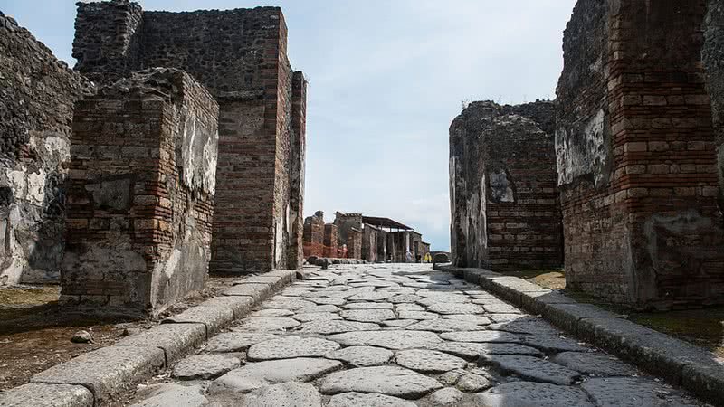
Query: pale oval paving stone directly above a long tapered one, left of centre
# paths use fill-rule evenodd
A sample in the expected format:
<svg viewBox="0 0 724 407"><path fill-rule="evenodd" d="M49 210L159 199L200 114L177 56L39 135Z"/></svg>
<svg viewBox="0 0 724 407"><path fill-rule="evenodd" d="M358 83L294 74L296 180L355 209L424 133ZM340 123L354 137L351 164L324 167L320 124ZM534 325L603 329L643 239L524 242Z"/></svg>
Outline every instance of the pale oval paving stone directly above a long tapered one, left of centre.
<svg viewBox="0 0 724 407"><path fill-rule="evenodd" d="M285 336L252 345L246 358L250 362L295 357L321 357L339 348L337 342L316 337Z"/></svg>

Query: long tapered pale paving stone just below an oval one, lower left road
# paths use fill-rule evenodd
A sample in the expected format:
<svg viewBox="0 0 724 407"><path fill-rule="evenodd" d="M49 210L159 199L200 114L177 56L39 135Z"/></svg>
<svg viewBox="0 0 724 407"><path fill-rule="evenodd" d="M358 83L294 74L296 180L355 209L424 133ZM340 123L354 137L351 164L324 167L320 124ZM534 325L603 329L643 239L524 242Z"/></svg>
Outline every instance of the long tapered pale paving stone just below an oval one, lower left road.
<svg viewBox="0 0 724 407"><path fill-rule="evenodd" d="M309 382L334 372L342 363L328 359L281 359L247 364L214 380L210 393L249 393L252 390L285 382Z"/></svg>

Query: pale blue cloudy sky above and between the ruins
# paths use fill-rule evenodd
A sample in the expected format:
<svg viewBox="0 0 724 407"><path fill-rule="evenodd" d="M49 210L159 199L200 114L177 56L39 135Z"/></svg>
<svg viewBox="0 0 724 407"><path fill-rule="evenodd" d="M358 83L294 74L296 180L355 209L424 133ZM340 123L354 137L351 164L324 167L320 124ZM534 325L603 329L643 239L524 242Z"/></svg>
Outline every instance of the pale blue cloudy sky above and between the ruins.
<svg viewBox="0 0 724 407"><path fill-rule="evenodd" d="M305 213L386 216L450 248L448 128L463 101L555 96L575 0L142 0L146 10L280 5L310 80ZM0 0L71 66L73 0Z"/></svg>

